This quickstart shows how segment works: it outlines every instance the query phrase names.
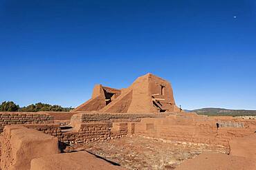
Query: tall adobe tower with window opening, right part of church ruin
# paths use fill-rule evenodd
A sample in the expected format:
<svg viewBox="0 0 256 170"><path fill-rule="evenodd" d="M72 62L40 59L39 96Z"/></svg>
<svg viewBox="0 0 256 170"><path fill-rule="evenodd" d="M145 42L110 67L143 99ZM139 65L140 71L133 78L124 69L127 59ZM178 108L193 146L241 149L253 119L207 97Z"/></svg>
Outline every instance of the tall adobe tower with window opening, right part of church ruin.
<svg viewBox="0 0 256 170"><path fill-rule="evenodd" d="M172 85L163 78L146 74L138 77L129 89L133 89L131 105L127 111L129 113L159 112L159 109L179 111L174 101Z"/></svg>

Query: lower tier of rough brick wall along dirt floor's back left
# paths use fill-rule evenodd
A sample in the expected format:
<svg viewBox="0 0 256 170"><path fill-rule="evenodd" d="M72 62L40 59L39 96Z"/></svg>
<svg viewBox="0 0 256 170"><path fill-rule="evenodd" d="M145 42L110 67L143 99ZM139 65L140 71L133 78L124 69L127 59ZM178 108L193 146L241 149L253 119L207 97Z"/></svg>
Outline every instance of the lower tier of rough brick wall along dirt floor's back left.
<svg viewBox="0 0 256 170"><path fill-rule="evenodd" d="M56 124L24 126L55 136L61 142L77 143L120 138L132 133L129 131L131 128L128 129L132 125L132 123L114 123L112 127L109 123L82 123L79 129L68 132L62 131L61 126Z"/></svg>

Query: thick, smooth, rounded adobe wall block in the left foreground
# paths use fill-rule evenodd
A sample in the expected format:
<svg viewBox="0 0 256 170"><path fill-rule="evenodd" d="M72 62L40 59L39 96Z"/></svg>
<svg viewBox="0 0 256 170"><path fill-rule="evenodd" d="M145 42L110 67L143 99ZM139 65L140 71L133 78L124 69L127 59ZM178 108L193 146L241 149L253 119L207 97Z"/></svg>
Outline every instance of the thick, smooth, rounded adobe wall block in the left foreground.
<svg viewBox="0 0 256 170"><path fill-rule="evenodd" d="M58 140L35 129L7 125L1 134L1 169L27 170L30 160L60 153Z"/></svg>

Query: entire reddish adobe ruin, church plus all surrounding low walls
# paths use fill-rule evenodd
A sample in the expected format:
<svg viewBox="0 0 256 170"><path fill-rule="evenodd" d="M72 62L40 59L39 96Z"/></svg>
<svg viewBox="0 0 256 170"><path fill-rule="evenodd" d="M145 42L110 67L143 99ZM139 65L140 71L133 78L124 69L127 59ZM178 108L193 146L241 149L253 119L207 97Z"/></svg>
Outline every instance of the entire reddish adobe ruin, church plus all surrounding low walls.
<svg viewBox="0 0 256 170"><path fill-rule="evenodd" d="M92 98L71 112L0 112L0 131L2 170L123 169L86 151L60 153L60 144L125 136L229 153L203 153L181 163L181 170L256 169L256 120L181 112L170 83L153 74L126 89L95 85Z"/></svg>

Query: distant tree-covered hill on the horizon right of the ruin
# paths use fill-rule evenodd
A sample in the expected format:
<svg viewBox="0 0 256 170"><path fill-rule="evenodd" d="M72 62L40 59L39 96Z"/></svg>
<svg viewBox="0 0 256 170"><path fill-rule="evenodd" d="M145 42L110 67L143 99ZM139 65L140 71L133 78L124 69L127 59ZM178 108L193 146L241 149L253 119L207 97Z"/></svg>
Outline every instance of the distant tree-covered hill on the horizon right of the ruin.
<svg viewBox="0 0 256 170"><path fill-rule="evenodd" d="M194 110L185 110L196 112L196 114L208 116L256 116L256 110L245 109L223 109L223 108L203 108Z"/></svg>

